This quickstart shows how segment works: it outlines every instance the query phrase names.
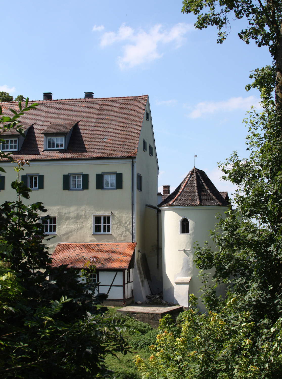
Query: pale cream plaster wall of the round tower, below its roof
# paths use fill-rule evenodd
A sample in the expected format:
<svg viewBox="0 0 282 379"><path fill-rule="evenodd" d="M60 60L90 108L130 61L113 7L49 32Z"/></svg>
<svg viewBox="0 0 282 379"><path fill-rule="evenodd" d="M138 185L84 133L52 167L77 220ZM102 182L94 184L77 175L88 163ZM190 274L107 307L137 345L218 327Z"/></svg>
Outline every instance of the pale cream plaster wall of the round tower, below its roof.
<svg viewBox="0 0 282 379"><path fill-rule="evenodd" d="M217 223L216 214L221 213L222 217L225 218L224 212L226 210L227 207L220 206L161 207L163 298L165 301L183 301L183 304L180 305L187 306L184 304L184 300L188 298L188 291L189 294L193 293L199 298L201 283L197 278L198 270L193 265L193 245L194 242L198 241L200 246L204 246L204 242L208 241L210 246L214 246L209 231L214 229ZM179 233L179 222L183 217L189 220L189 234ZM178 294L178 299L175 299L175 279L190 276L189 285L177 287L175 292L180 293L181 296ZM219 289L219 291L224 291L224 288ZM203 304L199 303L199 307L204 311Z"/></svg>

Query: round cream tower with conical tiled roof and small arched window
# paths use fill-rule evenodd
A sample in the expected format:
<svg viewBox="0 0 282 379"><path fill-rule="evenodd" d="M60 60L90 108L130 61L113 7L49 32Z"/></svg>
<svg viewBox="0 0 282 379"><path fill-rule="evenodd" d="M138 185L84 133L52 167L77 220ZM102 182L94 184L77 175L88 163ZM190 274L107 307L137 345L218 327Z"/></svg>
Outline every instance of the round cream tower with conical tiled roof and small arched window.
<svg viewBox="0 0 282 379"><path fill-rule="evenodd" d="M198 269L193 265L193 246L196 241L200 246L205 241L213 246L210 230L217 223L216 214L225 217L228 201L227 192L219 192L205 172L194 167L159 204L165 301L188 307L189 294L199 298L201 283ZM201 302L199 307L204 310Z"/></svg>

